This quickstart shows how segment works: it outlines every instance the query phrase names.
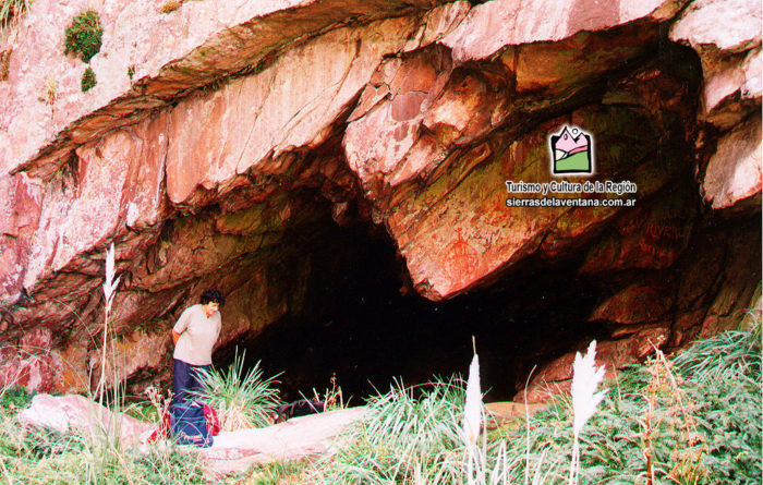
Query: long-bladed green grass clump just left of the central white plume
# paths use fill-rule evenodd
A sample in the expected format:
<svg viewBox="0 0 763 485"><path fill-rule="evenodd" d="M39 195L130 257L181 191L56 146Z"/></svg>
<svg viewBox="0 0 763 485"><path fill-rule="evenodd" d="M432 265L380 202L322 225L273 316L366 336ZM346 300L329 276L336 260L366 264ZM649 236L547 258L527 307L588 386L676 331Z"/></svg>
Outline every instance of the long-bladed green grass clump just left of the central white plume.
<svg viewBox="0 0 763 485"><path fill-rule="evenodd" d="M459 379L413 389L395 385L370 400L370 417L343 436L336 454L319 463L320 482L456 483L464 457L464 383Z"/></svg>

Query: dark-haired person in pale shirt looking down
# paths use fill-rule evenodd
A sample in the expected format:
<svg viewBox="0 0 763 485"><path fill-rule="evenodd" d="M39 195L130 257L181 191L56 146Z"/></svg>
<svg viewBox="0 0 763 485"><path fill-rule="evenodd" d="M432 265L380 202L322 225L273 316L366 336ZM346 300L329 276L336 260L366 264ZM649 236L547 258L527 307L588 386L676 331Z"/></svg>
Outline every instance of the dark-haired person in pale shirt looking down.
<svg viewBox="0 0 763 485"><path fill-rule="evenodd" d="M202 293L201 302L189 306L172 328L174 371L172 403L187 398L187 391L201 388L199 373L209 371L211 351L220 336L220 306L226 298L216 288Z"/></svg>

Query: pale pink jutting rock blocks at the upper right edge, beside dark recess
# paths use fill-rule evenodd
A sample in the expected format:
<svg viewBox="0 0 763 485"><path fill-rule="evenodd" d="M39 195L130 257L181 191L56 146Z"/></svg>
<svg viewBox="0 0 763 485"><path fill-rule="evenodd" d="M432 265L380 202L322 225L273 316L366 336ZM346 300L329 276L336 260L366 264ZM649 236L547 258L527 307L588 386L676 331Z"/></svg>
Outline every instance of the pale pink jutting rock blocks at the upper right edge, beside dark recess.
<svg viewBox="0 0 763 485"><path fill-rule="evenodd" d="M701 1L670 29L673 40L700 54L705 76L700 118L722 132L707 150L702 179L705 201L715 209L751 197L748 204L760 206L762 17L754 3Z"/></svg>

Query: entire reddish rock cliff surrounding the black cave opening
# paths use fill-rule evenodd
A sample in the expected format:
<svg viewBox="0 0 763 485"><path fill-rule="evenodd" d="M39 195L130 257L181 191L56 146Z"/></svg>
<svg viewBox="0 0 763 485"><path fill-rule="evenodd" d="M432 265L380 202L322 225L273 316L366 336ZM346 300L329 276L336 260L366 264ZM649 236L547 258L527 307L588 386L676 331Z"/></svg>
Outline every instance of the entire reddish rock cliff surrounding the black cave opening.
<svg viewBox="0 0 763 485"><path fill-rule="evenodd" d="M385 230L429 300L579 260L611 368L732 326L760 292L754 2L149 3L99 11L87 93L60 51L85 2L33 2L0 44L0 384L97 378L110 243L107 341L142 381L167 376L169 329L204 288L229 295L219 345L298 314L326 223ZM566 124L592 133L593 175L550 173ZM508 207L507 181L638 192ZM538 379L565 381L565 359Z"/></svg>

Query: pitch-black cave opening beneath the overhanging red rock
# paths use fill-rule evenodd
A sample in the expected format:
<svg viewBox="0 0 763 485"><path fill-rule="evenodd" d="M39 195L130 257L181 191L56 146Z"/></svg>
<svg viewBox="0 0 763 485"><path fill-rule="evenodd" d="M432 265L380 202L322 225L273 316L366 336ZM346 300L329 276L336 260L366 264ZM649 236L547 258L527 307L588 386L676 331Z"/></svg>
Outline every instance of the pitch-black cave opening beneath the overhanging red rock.
<svg viewBox="0 0 763 485"><path fill-rule="evenodd" d="M603 332L585 322L596 291L577 279L577 262L531 260L486 290L432 302L401 292L404 263L384 230L328 221L303 247L313 262L304 311L215 355L225 366L234 347L245 349L246 366L261 361L265 376L282 373L288 400L323 395L332 376L355 404L396 379L465 376L472 336L487 399L508 400L533 365Z"/></svg>

